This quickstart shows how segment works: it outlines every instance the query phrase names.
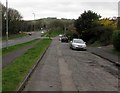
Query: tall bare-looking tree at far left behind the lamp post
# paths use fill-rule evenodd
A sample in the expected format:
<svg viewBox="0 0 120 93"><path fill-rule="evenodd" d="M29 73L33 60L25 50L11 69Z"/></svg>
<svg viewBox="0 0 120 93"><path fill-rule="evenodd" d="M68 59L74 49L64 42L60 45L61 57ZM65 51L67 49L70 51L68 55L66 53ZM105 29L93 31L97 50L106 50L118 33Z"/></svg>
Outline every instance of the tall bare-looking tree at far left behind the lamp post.
<svg viewBox="0 0 120 93"><path fill-rule="evenodd" d="M6 34L6 7L0 3L2 7L2 35ZM20 31L20 20L22 19L21 14L12 8L8 9L8 25L9 34L16 34Z"/></svg>

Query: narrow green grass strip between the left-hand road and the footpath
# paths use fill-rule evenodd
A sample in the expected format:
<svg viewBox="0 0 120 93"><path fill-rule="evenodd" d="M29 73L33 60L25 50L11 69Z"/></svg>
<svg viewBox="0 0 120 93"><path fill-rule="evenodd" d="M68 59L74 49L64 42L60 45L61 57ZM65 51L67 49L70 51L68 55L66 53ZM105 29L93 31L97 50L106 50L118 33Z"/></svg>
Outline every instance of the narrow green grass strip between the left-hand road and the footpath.
<svg viewBox="0 0 120 93"><path fill-rule="evenodd" d="M15 51L17 49L20 49L22 47L30 45L30 44L34 43L35 41L37 41L37 39L32 40L32 41L27 42L27 43L22 43L22 44L17 44L17 45L14 45L14 46L10 46L10 47L8 47L8 49L7 48L2 48L2 49L0 49L0 51L2 50L2 52L0 52L0 53L2 53L2 55L6 55L6 54L8 54L8 53L10 53L12 51Z"/></svg>

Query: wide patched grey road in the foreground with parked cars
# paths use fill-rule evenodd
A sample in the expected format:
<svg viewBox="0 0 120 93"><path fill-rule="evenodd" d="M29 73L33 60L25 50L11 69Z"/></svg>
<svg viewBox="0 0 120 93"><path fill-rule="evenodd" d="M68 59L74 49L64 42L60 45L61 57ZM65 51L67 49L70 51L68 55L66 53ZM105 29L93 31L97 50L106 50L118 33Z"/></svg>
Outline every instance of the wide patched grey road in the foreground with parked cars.
<svg viewBox="0 0 120 93"><path fill-rule="evenodd" d="M55 38L24 91L118 91L118 69Z"/></svg>

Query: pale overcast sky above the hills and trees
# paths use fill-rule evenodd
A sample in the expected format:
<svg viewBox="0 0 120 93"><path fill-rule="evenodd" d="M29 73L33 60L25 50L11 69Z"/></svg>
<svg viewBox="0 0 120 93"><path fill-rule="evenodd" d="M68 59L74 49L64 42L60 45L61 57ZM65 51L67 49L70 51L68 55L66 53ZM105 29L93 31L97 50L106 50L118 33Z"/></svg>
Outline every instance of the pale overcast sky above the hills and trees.
<svg viewBox="0 0 120 93"><path fill-rule="evenodd" d="M6 0L0 0L5 5ZM102 17L118 16L120 0L8 0L8 7L18 10L23 19L67 18L77 19L85 10L92 10Z"/></svg>

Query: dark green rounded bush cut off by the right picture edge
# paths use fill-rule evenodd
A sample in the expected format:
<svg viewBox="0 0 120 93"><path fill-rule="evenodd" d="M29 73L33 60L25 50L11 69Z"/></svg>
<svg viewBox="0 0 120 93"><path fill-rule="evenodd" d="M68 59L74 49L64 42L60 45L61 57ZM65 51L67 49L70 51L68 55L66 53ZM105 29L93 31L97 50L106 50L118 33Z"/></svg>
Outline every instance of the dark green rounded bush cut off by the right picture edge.
<svg viewBox="0 0 120 93"><path fill-rule="evenodd" d="M113 46L117 51L120 51L120 30L113 32Z"/></svg>

